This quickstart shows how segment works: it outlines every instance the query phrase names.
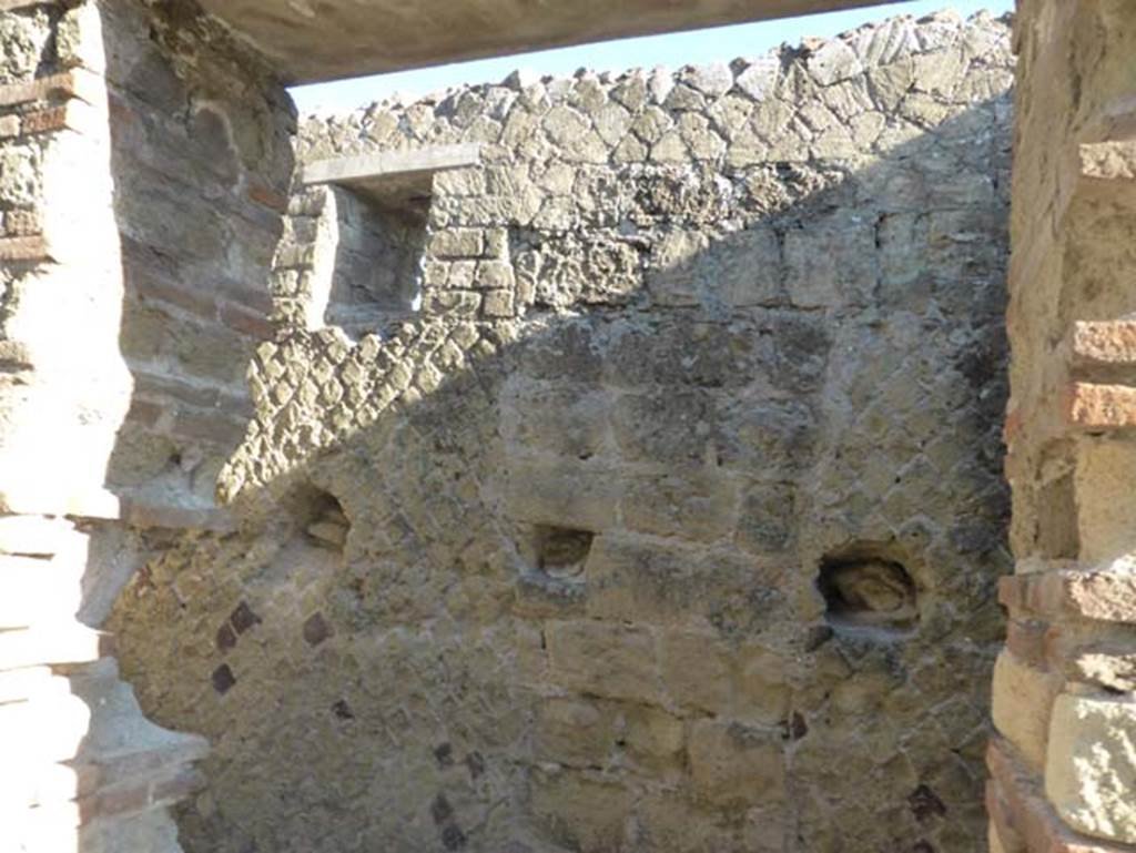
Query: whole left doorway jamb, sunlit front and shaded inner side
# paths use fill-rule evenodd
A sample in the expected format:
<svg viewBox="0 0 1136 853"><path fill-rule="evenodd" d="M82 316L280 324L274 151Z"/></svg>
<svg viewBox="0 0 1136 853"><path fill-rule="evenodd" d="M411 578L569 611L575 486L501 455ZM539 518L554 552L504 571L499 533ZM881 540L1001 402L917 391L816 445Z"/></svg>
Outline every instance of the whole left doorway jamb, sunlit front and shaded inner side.
<svg viewBox="0 0 1136 853"><path fill-rule="evenodd" d="M294 115L186 3L6 0L0 43L0 847L170 853L208 744L98 628L154 528L217 525Z"/></svg>

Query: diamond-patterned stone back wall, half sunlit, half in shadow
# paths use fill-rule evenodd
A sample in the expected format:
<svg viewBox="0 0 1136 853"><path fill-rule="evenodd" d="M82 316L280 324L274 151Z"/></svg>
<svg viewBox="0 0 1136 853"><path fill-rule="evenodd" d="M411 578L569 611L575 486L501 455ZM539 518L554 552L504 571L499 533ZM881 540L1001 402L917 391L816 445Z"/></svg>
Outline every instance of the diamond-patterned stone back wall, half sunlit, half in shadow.
<svg viewBox="0 0 1136 853"><path fill-rule="evenodd" d="M306 125L482 162L369 328L291 198L239 529L110 621L186 850L979 848L1010 82L943 15Z"/></svg>

